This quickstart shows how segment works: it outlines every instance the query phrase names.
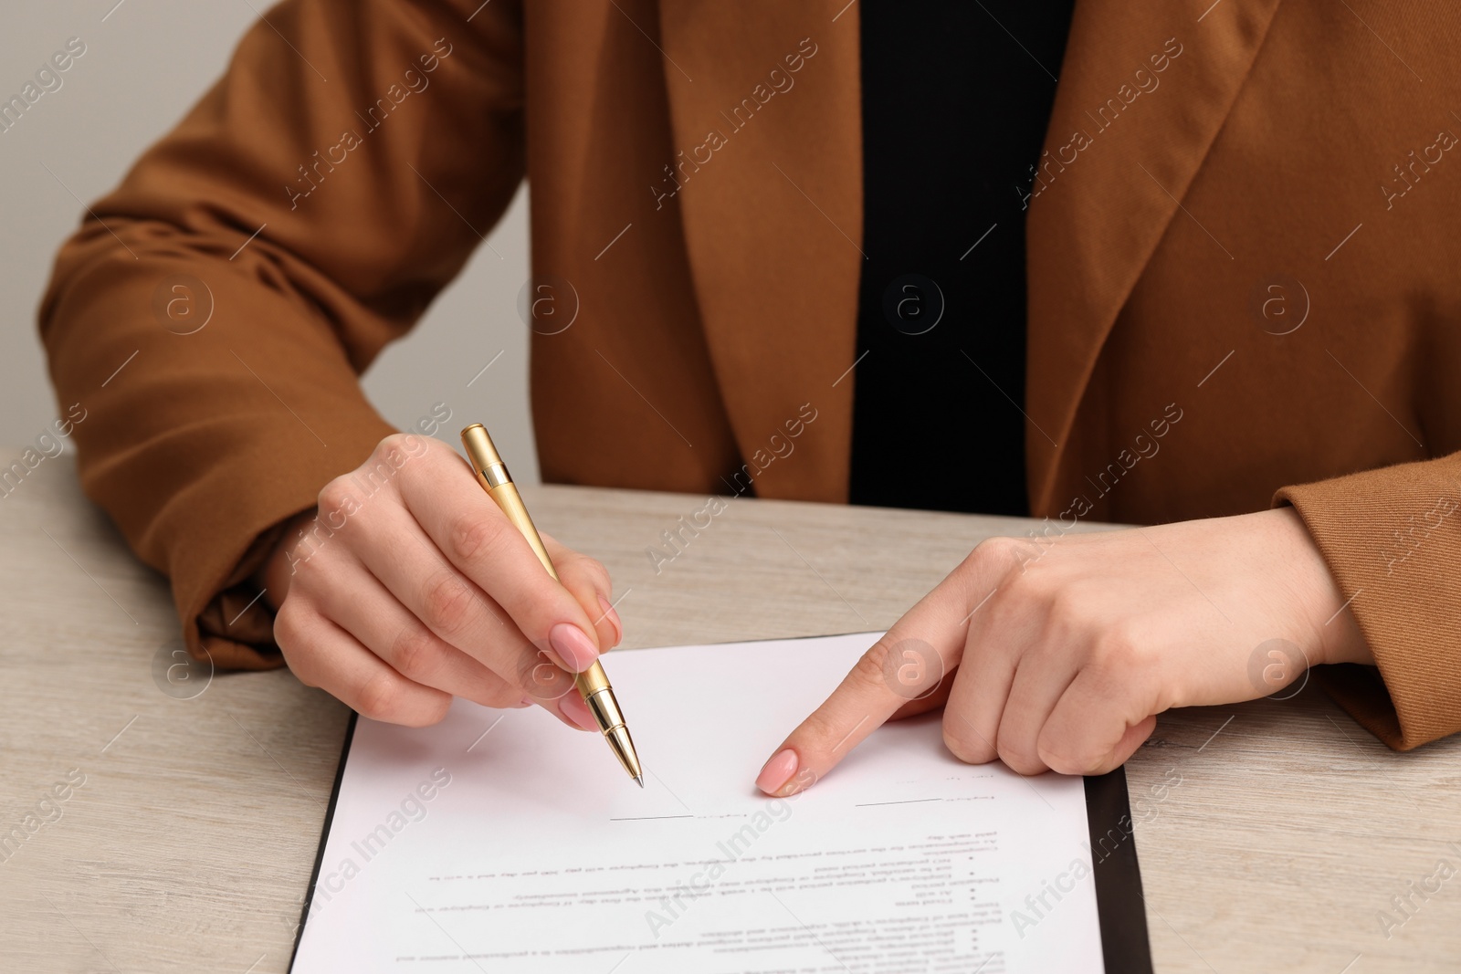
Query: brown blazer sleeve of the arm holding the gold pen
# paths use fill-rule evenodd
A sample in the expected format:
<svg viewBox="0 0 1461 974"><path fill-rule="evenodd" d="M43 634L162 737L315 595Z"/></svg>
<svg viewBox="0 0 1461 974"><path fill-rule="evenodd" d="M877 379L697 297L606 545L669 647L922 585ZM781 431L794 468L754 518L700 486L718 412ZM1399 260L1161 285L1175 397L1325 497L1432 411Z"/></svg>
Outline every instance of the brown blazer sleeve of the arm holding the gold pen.
<svg viewBox="0 0 1461 974"><path fill-rule="evenodd" d="M520 25L513 0L286 0L61 247L39 329L82 488L194 656L279 664L247 578L394 432L359 372L522 181Z"/></svg>

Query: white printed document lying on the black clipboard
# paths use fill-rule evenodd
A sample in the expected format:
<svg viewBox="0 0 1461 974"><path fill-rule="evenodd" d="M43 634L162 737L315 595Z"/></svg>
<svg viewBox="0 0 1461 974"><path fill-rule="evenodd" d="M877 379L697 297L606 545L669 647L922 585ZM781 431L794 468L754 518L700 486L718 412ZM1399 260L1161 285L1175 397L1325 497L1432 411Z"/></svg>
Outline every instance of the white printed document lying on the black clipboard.
<svg viewBox="0 0 1461 974"><path fill-rule="evenodd" d="M646 771L532 707L361 718L294 971L1100 971L1083 780L890 723L793 799L761 764L877 634L605 657Z"/></svg>

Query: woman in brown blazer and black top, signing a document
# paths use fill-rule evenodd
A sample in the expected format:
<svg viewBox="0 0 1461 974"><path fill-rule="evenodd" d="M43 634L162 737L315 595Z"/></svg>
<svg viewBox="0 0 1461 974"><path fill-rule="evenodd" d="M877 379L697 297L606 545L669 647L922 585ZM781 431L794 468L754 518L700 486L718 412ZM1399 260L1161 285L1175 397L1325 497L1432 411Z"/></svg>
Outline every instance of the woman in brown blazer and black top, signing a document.
<svg viewBox="0 0 1461 974"><path fill-rule="evenodd" d="M1458 15L1395 15L1401 60L1303 4L1040 6L288 0L58 257L89 495L196 654L278 644L371 717L586 666L621 637L602 567L549 542L543 578L356 381L526 172L546 480L1046 518L915 606L766 791L945 699L967 761L1099 772L1167 707L1321 663L1360 664L1325 683L1392 746L1452 733L1457 126L1426 25ZM920 701L906 653L947 675Z"/></svg>

